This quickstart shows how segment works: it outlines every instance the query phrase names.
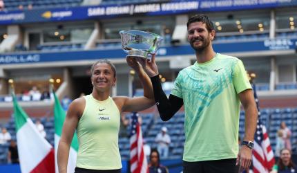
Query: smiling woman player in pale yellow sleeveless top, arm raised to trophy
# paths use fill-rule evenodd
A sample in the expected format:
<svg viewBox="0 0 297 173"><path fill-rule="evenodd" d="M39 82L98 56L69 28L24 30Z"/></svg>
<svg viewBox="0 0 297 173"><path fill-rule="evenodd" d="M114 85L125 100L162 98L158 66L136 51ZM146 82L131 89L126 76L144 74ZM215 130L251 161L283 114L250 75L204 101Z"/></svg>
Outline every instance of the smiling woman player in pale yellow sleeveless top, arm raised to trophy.
<svg viewBox="0 0 297 173"><path fill-rule="evenodd" d="M79 140L75 173L121 172L118 147L120 114L124 111L142 111L154 104L151 80L140 66L144 60L137 57L127 57L126 60L138 74L144 87L144 96L111 98L109 94L116 82L115 67L108 60L95 62L90 69L92 93L74 100L67 111L57 152L59 173L67 172L70 143L75 129Z"/></svg>

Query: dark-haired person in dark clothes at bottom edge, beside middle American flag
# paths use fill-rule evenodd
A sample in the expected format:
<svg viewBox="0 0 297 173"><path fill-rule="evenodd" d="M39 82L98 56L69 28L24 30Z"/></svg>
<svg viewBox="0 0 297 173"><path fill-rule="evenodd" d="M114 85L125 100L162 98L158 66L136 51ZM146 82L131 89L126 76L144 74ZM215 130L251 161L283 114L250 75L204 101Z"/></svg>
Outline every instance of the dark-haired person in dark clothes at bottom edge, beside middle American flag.
<svg viewBox="0 0 297 173"><path fill-rule="evenodd" d="M168 173L167 167L160 164L160 155L157 149L151 149L149 156L148 173Z"/></svg>

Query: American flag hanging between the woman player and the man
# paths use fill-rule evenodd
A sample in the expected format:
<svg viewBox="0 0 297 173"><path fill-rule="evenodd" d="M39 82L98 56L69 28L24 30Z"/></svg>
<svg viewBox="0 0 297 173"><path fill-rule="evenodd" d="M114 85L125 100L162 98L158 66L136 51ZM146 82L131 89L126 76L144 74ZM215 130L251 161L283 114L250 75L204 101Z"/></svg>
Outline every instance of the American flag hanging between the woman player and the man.
<svg viewBox="0 0 297 173"><path fill-rule="evenodd" d="M130 134L130 170L131 173L148 172L148 164L144 154L142 128L138 123L138 114L133 113Z"/></svg>

